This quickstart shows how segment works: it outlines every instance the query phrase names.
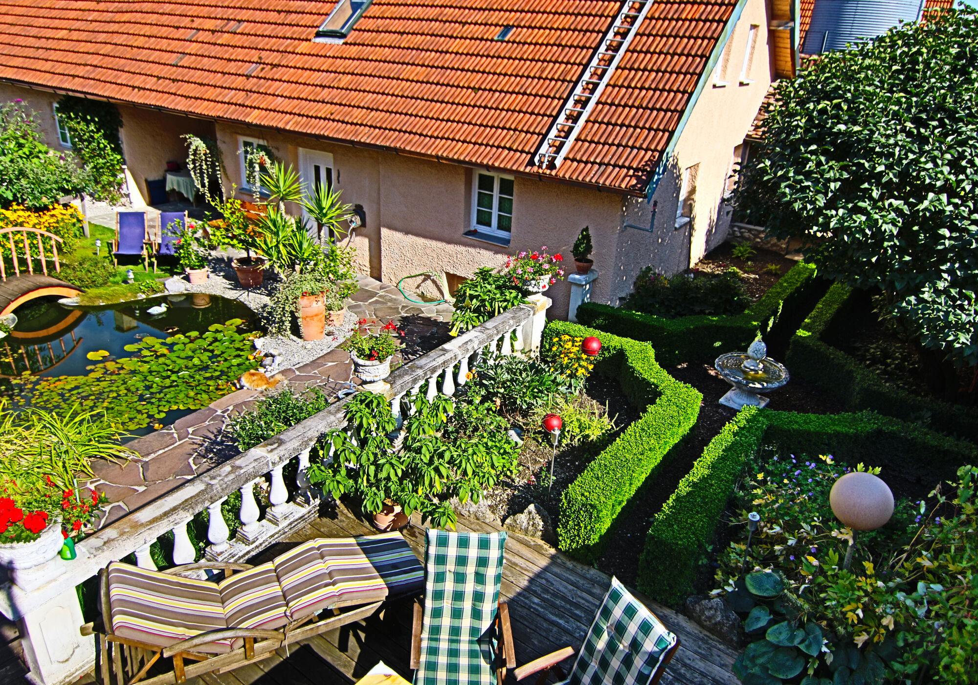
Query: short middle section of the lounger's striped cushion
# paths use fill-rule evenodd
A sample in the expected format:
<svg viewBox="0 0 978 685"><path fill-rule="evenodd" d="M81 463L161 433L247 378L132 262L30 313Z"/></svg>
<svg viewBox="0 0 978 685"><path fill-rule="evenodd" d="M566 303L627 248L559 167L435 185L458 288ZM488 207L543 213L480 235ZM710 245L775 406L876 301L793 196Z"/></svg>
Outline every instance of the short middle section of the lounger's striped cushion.
<svg viewBox="0 0 978 685"><path fill-rule="evenodd" d="M272 562L239 571L218 583L217 588L228 625L275 629L289 622L286 598Z"/></svg>

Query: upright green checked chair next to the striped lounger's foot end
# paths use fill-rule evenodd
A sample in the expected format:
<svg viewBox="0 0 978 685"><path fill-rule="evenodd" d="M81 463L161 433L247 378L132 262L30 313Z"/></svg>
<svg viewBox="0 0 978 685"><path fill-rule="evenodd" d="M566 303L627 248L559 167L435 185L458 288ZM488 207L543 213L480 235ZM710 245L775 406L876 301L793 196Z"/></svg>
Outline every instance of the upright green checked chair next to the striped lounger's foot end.
<svg viewBox="0 0 978 685"><path fill-rule="evenodd" d="M415 605L415 685L492 685L516 665L510 611L499 601L505 531L428 529L423 609Z"/></svg>

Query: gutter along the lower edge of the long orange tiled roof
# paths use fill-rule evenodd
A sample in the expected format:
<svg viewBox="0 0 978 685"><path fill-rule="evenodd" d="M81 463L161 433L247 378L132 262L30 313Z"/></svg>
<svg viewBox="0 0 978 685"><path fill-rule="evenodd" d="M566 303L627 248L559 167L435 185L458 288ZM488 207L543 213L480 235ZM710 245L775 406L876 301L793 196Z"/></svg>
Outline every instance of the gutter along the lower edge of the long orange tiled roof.
<svg viewBox="0 0 978 685"><path fill-rule="evenodd" d="M600 183L588 183L586 181L575 181L569 178L560 178L559 176L551 176L546 173L541 173L540 170L536 171L525 171L521 169L511 169L505 166L493 166L490 164L476 164L470 160L454 160L451 158L439 156L439 155L424 155L423 153L417 153L410 150L403 150L401 148L391 148L383 145L375 145L372 143L361 143L358 141L344 140L340 138L331 138L329 136L319 136L310 133L303 133L302 131L292 131L284 128L277 128L273 126L262 126L260 124L250 123L248 121L241 121L239 119L227 118L222 116L204 116L201 114L194 114L190 112L184 112L181 110L173 110L165 107L160 107L158 105L145 105L142 103L135 103L129 100L118 100L114 98L106 98L99 95L92 95L90 93L85 93L83 91L70 90L67 88L54 88L51 86L42 86L36 83L29 83L27 81L20 81L14 78L6 78L0 76L0 83L9 83L14 86L21 88L26 88L28 90L38 90L45 93L54 93L55 95L73 95L79 98L86 98L88 100L101 100L103 102L111 102L117 105L125 105L126 107L136 108L138 110L153 110L155 112L162 112L165 114L174 114L176 116L186 116L188 118L201 119L204 121L220 121L221 123L233 124L236 126L244 126L246 128L253 128L265 131L275 131L277 133L285 133L293 136L301 136L303 138L309 138L312 140L318 140L325 143L333 143L334 145L345 145L351 148L363 148L365 150L374 150L376 152L391 153L393 155L403 155L405 157L411 157L419 160L437 161L443 164L456 164L459 166L467 166L470 168L484 168L487 171L495 171L497 173L506 173L512 176L519 176L520 178L531 178L538 181L551 181L553 183L559 183L565 186L573 186L575 188L586 188L588 190L596 190L599 193L614 193L617 195L625 195L630 197L641 198L644 197L645 192L641 189L629 189L629 188L618 188L616 186L602 185Z"/></svg>

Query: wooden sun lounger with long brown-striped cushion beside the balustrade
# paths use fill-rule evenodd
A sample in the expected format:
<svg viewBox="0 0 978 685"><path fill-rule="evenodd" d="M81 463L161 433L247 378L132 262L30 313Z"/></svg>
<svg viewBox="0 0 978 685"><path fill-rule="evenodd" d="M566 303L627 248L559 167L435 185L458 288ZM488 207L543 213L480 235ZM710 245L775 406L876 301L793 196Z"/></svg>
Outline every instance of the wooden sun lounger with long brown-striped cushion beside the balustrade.
<svg viewBox="0 0 978 685"><path fill-rule="evenodd" d="M224 571L224 578L183 577L200 571ZM218 562L147 571L113 562L100 572L102 619L82 633L99 635L95 672L104 685L111 672L116 685L179 684L371 616L389 598L416 595L422 577L396 532L307 540L255 567ZM349 607L359 609L338 611ZM324 610L333 612L317 619ZM172 658L172 670L143 680L160 658Z"/></svg>

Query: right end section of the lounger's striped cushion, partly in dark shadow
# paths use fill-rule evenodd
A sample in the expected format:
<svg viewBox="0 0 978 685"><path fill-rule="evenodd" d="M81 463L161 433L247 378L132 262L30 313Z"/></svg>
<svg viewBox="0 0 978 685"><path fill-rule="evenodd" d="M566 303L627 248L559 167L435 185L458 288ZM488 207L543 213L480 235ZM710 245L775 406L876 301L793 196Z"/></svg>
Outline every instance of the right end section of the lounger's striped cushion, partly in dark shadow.
<svg viewBox="0 0 978 685"><path fill-rule="evenodd" d="M424 569L399 532L316 543L337 600L367 604L422 590Z"/></svg>

